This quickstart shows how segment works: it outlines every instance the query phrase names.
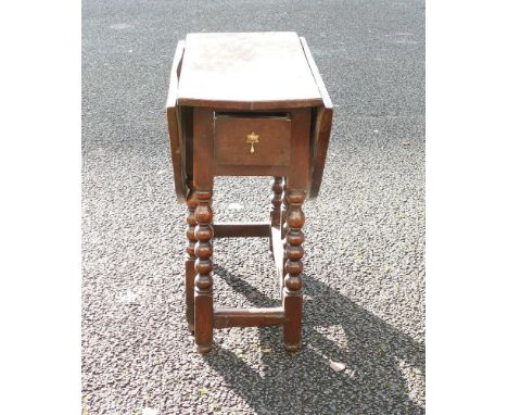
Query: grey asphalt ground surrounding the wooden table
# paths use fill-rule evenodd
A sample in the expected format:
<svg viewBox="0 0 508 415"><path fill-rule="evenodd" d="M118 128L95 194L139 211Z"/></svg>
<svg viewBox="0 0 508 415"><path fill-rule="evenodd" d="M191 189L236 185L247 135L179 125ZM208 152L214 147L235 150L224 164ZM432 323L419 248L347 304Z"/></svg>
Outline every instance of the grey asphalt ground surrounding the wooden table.
<svg viewBox="0 0 508 415"><path fill-rule="evenodd" d="M194 352L186 208L165 124L190 32L295 30L335 105L304 206L303 349L279 328ZM424 3L82 2L82 413L424 413ZM215 221L266 221L269 178L218 178ZM217 240L215 301L278 303L265 239Z"/></svg>

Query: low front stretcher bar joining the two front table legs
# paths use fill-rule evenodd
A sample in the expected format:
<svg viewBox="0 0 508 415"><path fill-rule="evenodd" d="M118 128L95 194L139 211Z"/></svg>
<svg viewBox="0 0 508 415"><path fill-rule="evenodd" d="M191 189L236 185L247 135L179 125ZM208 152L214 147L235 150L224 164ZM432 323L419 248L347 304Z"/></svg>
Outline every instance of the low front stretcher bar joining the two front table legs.
<svg viewBox="0 0 508 415"><path fill-rule="evenodd" d="M214 312L214 328L279 326L284 322L282 307L217 309Z"/></svg>

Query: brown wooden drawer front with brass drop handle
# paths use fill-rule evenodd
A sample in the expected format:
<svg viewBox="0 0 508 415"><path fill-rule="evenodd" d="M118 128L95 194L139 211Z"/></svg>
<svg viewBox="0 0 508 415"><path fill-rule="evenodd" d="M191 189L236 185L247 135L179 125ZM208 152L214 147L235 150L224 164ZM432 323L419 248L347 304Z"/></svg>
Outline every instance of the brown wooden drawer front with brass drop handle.
<svg viewBox="0 0 508 415"><path fill-rule="evenodd" d="M289 165L291 118L215 115L214 156L218 164Z"/></svg>

